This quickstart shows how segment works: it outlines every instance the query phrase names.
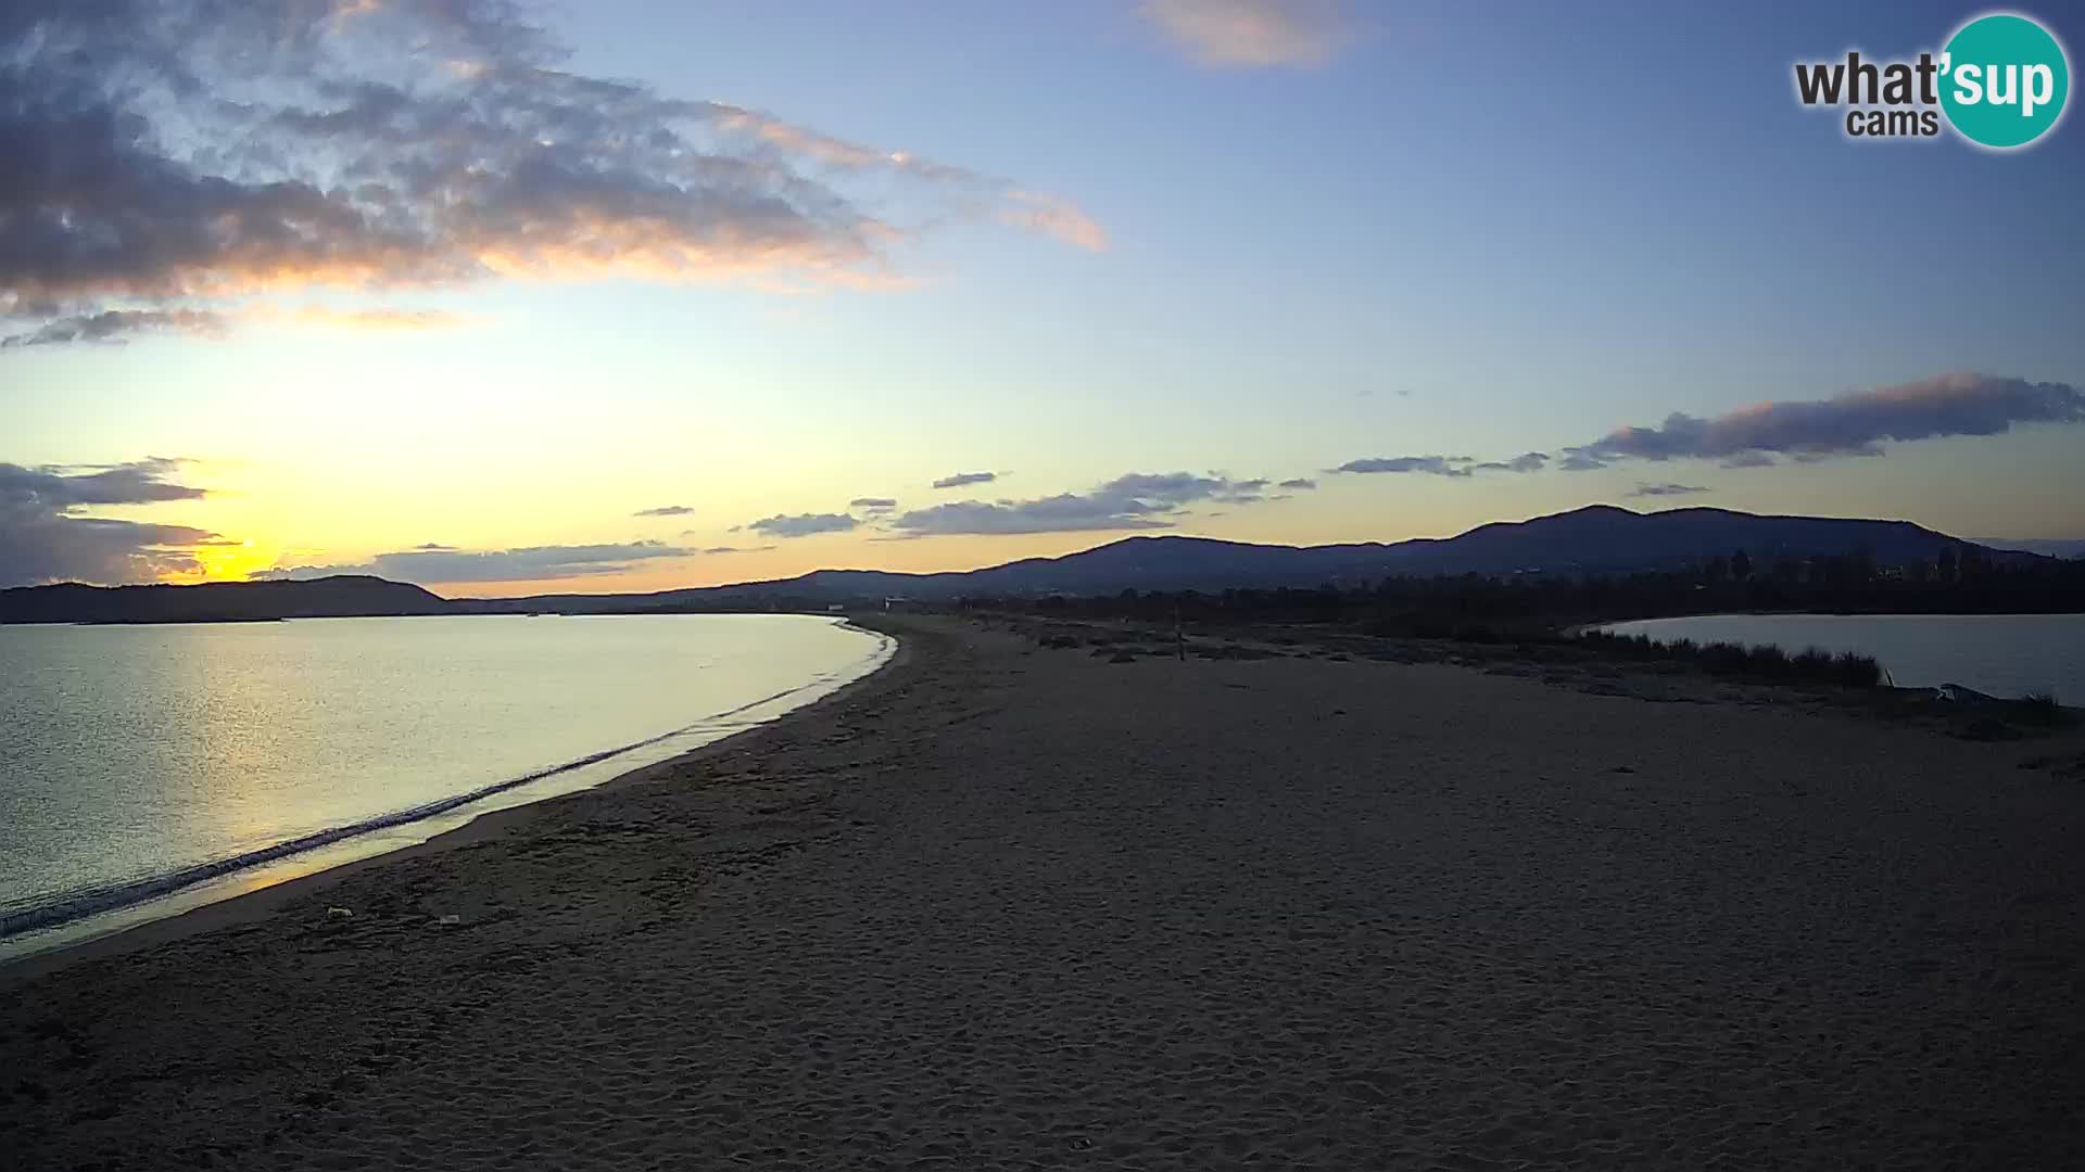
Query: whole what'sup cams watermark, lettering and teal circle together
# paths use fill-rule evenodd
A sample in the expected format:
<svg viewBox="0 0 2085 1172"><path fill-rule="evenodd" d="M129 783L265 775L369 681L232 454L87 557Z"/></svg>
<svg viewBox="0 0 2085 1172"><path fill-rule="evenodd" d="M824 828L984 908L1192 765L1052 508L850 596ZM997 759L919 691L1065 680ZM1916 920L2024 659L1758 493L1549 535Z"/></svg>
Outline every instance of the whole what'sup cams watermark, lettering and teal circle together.
<svg viewBox="0 0 2085 1172"><path fill-rule="evenodd" d="M1991 150L2027 146L2056 129L2070 98L2070 58L2031 17L1989 13L1945 48L1908 60L1795 63L1804 106L1843 106L1847 138L1935 138L1941 125Z"/></svg>

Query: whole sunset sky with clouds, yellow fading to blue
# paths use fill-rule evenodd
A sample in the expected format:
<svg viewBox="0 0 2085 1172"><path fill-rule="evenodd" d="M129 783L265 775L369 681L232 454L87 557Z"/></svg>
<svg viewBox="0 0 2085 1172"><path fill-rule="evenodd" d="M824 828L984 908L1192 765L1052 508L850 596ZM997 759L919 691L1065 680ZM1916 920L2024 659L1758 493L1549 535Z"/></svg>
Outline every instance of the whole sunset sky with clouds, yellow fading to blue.
<svg viewBox="0 0 2085 1172"><path fill-rule="evenodd" d="M19 0L0 586L2085 538L2079 119L1791 79L1983 10Z"/></svg>

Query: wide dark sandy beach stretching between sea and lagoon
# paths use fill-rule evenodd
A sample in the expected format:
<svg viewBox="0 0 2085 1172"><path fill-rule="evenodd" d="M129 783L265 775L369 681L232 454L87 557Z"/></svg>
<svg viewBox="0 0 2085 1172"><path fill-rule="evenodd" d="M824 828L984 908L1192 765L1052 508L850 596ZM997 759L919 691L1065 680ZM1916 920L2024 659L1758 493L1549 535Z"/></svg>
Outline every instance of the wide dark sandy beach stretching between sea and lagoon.
<svg viewBox="0 0 2085 1172"><path fill-rule="evenodd" d="M2085 1166L2075 734L882 621L776 726L0 970L6 1164Z"/></svg>

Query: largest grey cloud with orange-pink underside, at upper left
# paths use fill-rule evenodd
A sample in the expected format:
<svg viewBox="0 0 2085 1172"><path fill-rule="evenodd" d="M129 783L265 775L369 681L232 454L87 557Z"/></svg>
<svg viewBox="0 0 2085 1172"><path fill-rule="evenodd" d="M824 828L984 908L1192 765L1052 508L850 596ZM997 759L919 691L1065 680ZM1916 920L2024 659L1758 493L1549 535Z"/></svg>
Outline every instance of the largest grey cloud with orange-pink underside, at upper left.
<svg viewBox="0 0 2085 1172"><path fill-rule="evenodd" d="M899 252L949 223L1105 244L1061 196L575 73L530 8L15 0L0 44L27 52L0 58L0 317L48 344L181 327L94 325L104 313L240 315L311 288L888 286Z"/></svg>

